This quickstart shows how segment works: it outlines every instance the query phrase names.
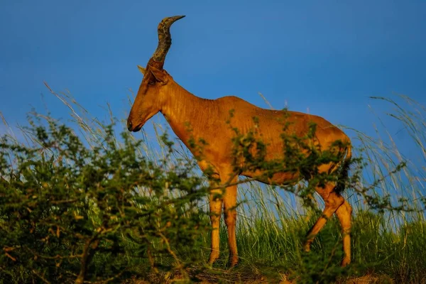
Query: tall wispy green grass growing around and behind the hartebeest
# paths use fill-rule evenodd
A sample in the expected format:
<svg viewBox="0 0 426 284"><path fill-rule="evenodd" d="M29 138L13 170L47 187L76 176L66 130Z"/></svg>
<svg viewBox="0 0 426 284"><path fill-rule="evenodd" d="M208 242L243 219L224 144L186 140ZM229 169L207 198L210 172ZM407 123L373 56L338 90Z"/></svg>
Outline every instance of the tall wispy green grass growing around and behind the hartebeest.
<svg viewBox="0 0 426 284"><path fill-rule="evenodd" d="M70 109L72 128L82 137L87 148L102 144L104 129L102 123L90 116L89 112L64 94L56 94ZM392 173L398 163L406 160L401 153L393 136L386 131L386 127L375 129L376 136L347 129L353 134L351 138L356 145L356 156L364 157L368 163L362 171L363 179L359 180L360 187L371 185L372 180L380 180L375 187L368 191L370 195L389 195L391 204L403 204L416 211L380 210L371 209L356 191L347 189L344 195L354 207L352 231L352 259L348 268L340 268L342 259L341 236L339 224L335 219L327 222L312 245L310 253L302 252L302 239L307 230L320 216L320 212L302 206L300 200L290 192L278 187L261 185L257 182L247 182L239 187L239 202L237 208L237 242L241 262L238 267L226 270L227 244L226 228L221 231L221 256L212 267L207 266L209 255L209 232L203 231L197 236L200 246L197 248L181 244L176 246L174 257L165 257L161 254L152 256L158 258L162 264L191 263L182 270L160 271L155 273L146 257L133 263L128 269L126 277L111 279L113 283L143 283L173 282L185 280L204 281L204 283L278 283L282 281L297 281L297 283L426 283L426 216L424 188L426 169L426 120L425 108L411 101L408 97L395 97L398 103L391 99L376 98L383 104L393 106L391 116L395 122L405 129L411 139L413 147L411 155L420 158L420 163L407 161L407 166L397 173ZM40 114L35 116L42 117ZM109 114L111 120L114 116ZM380 119L380 117L378 117ZM8 125L4 119L6 126ZM124 123L116 125L116 129L124 129ZM138 155L148 157L153 163L165 158L170 159L169 165L173 169L175 160L192 160L192 156L178 141L174 141L173 153L168 153L167 147L160 138L164 126L154 125L155 136L143 133L144 141L138 148ZM18 136L23 138L17 138ZM22 130L19 135L9 138L16 143L38 143L33 136L26 135ZM116 136L116 143L121 138ZM414 153L414 154L413 154ZM423 163L421 162L423 161ZM199 170L193 170L193 175L202 177ZM205 182L205 181L204 181ZM140 188L141 195L146 195L144 188ZM170 193L175 194L175 193ZM398 200L404 197L402 203ZM320 199L315 199L321 209ZM399 202L399 203L398 203ZM197 203L200 212L207 209L204 199ZM207 215L202 218L208 219ZM124 237L125 246L132 248L133 241ZM153 243L160 246L160 243ZM195 256L197 254L197 256ZM201 257L204 261L196 261ZM92 268L102 271L105 263L119 262L119 258L131 258L130 254L119 253L114 256L95 255ZM1 267L1 266L0 266ZM1 273L1 271L0 271ZM138 275L132 278L132 273ZM185 275L187 273L187 275ZM141 276L144 275L144 276ZM361 282L364 280L366 282ZM351 282L352 281L352 282ZM42 283L44 281L40 281ZM17 280L16 283L19 283Z"/></svg>

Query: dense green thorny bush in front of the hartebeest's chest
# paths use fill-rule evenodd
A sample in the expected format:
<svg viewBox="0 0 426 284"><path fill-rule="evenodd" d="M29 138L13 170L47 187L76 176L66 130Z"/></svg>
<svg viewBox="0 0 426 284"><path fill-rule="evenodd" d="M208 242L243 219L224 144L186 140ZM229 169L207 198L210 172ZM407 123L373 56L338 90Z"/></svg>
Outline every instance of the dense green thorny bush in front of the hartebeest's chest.
<svg viewBox="0 0 426 284"><path fill-rule="evenodd" d="M29 146L0 143L0 275L4 283L83 283L153 271L180 270L199 261L207 231L198 203L206 194L194 163L170 151L153 163L136 155L141 141L113 126L87 146L53 120L26 129ZM173 143L163 140L169 147ZM179 251L192 256L180 259ZM145 275L144 275L145 273Z"/></svg>

